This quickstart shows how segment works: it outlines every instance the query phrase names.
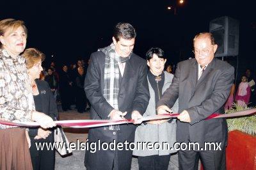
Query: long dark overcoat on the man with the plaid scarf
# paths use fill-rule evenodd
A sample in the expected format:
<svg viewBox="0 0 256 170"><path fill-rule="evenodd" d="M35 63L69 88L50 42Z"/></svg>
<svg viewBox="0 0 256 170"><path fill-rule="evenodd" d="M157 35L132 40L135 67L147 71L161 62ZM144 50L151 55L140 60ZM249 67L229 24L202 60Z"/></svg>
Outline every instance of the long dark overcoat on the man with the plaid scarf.
<svg viewBox="0 0 256 170"><path fill-rule="evenodd" d="M94 52L91 55L91 62L88 66L84 82L86 97L92 105L90 116L93 120L109 119L108 115L114 109L103 97L105 58L105 54L100 51ZM127 111L125 118L131 119L132 111L139 111L141 115L145 112L148 100L147 62L136 54L131 54L131 58L125 64L124 76L120 81L118 96L119 110L122 112ZM106 143L113 142L113 139L116 142L124 142L125 140L133 142L135 129L136 126L131 124L120 125L120 130L116 132L108 130L108 128L104 130L104 127L90 128L88 139L89 142L97 142L98 139ZM104 155L103 162L98 157L102 157L102 155ZM85 164L86 167L92 167L94 165L93 168L96 169L111 169L114 156L115 152L110 150L100 150L96 153L86 151ZM125 158L126 156L131 157L129 154L122 154L122 160L127 160ZM131 162L128 162L128 164L131 164Z"/></svg>

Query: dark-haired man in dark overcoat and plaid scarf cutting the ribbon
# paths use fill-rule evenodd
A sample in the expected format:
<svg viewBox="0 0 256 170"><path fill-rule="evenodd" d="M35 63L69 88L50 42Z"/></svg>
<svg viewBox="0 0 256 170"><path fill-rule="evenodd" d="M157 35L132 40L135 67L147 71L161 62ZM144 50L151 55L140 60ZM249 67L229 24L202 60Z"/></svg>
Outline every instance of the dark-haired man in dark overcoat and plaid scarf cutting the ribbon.
<svg viewBox="0 0 256 170"><path fill-rule="evenodd" d="M149 92L147 62L134 54L136 32L129 23L115 26L113 43L93 52L86 73L84 89L92 105L93 120L140 119L147 109ZM135 125L90 128L86 150L87 169L131 169L132 150L103 150L102 143L134 142ZM99 145L98 145L99 144ZM124 145L123 145L124 146ZM93 150L95 149L95 150ZM95 153L93 153L95 152Z"/></svg>

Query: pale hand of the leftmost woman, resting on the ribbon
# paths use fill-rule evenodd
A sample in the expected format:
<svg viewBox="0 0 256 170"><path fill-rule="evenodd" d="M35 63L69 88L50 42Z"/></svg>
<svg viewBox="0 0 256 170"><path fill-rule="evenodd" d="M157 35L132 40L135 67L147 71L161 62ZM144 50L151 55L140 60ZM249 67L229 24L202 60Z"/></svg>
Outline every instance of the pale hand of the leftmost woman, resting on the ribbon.
<svg viewBox="0 0 256 170"><path fill-rule="evenodd" d="M42 128L52 128L56 126L52 118L42 112L34 111L32 114L32 120L39 123Z"/></svg>

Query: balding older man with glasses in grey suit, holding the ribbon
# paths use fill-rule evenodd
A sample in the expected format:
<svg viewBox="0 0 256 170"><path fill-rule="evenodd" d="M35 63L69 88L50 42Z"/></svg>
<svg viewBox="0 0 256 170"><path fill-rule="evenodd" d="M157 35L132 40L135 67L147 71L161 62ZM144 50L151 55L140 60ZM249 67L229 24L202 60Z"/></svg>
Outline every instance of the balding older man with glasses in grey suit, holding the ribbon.
<svg viewBox="0 0 256 170"><path fill-rule="evenodd" d="M234 68L214 58L216 45L211 33L200 33L194 40L195 59L177 65L172 85L159 103L157 113L171 112L179 97L177 141L198 143L200 148L179 150L179 169L196 169L200 157L204 169L225 169L227 122L225 119L205 120L214 112L224 113L223 104L234 80ZM205 142L220 144L205 147ZM202 148L202 150L201 150Z"/></svg>

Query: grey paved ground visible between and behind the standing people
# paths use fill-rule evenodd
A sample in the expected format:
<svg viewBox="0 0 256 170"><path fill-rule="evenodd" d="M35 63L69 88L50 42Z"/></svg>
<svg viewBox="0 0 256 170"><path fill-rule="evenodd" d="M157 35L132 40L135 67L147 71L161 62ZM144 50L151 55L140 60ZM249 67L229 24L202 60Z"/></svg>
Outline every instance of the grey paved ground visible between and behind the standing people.
<svg viewBox="0 0 256 170"><path fill-rule="evenodd" d="M76 110L60 112L60 120L83 120L89 119L88 112L80 114ZM67 135L68 141L85 142L88 136L88 128L64 128L64 132ZM84 167L84 152L81 150L74 150L71 155L66 157L61 157L58 152L56 152L56 170L69 170L69 169L86 169ZM138 169L138 160L137 158L132 158L132 167L131 169ZM170 159L170 164L168 169L176 170L178 168L178 157L177 154L172 155Z"/></svg>

